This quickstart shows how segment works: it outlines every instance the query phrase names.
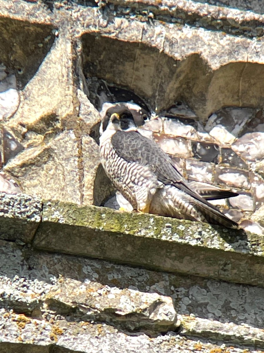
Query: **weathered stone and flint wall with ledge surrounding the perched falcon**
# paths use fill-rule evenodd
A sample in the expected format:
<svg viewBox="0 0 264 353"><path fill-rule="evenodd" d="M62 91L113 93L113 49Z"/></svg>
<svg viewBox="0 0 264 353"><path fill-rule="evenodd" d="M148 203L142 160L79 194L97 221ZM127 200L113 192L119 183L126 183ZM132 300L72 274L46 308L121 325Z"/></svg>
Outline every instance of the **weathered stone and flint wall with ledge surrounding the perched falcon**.
<svg viewBox="0 0 264 353"><path fill-rule="evenodd" d="M0 0L0 191L27 194L1 194L0 352L264 349L263 23L261 0ZM258 234L92 206L121 100Z"/></svg>

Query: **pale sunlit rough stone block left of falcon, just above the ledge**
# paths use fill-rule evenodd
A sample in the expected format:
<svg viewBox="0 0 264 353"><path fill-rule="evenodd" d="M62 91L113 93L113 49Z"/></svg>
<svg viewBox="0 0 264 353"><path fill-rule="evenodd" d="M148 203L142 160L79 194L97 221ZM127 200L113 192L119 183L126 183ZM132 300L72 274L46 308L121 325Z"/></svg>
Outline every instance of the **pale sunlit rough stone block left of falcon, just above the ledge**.
<svg viewBox="0 0 264 353"><path fill-rule="evenodd" d="M4 170L19 179L23 191L30 195L80 204L78 145L74 132L64 131L47 144L27 148Z"/></svg>

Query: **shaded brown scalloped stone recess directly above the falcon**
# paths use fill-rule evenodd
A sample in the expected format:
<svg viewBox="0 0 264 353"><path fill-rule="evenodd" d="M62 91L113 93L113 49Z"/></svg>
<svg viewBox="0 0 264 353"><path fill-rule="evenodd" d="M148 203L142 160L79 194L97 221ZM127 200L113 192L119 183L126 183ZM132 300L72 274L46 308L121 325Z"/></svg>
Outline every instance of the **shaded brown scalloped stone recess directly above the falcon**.
<svg viewBox="0 0 264 353"><path fill-rule="evenodd" d="M264 106L263 64L231 62L213 71L199 54L179 61L143 43L93 34L81 40L86 78L132 90L157 112L182 101L205 122L223 106Z"/></svg>

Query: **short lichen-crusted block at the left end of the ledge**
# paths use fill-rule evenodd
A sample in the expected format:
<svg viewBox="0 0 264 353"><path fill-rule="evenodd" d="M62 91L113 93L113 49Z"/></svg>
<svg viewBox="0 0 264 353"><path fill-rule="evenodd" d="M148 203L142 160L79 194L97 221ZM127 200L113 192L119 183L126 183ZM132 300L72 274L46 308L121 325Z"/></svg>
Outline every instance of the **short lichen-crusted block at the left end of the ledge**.
<svg viewBox="0 0 264 353"><path fill-rule="evenodd" d="M41 220L42 202L25 195L0 192L0 239L30 243Z"/></svg>

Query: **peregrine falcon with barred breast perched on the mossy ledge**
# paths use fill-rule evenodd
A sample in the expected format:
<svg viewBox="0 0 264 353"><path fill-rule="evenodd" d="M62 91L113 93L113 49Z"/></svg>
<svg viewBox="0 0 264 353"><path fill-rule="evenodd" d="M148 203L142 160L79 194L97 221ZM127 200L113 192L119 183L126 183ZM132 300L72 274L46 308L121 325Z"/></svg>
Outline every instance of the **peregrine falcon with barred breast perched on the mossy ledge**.
<svg viewBox="0 0 264 353"><path fill-rule="evenodd" d="M193 190L171 158L136 130L127 104L112 105L103 113L100 155L109 179L134 210L228 228L238 226L206 200L209 196Z"/></svg>

